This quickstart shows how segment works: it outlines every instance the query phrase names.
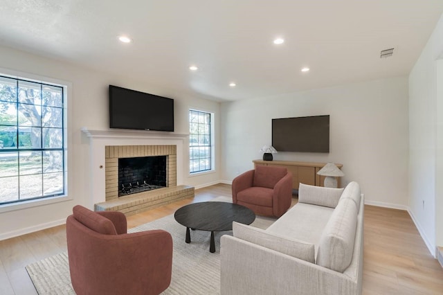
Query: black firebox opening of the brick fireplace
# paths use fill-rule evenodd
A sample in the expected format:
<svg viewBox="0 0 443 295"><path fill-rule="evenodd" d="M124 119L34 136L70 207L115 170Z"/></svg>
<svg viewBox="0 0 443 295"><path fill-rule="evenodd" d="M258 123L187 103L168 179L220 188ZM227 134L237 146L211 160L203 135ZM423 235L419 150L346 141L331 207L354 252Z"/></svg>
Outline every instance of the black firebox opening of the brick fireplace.
<svg viewBox="0 0 443 295"><path fill-rule="evenodd" d="M118 159L118 197L166 187L168 156Z"/></svg>

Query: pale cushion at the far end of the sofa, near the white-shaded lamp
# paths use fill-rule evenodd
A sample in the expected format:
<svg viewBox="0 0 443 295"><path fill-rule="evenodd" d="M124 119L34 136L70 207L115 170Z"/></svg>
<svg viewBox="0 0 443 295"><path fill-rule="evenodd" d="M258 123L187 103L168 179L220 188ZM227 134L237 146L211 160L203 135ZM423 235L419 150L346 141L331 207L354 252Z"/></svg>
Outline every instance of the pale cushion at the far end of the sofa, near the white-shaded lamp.
<svg viewBox="0 0 443 295"><path fill-rule="evenodd" d="M301 184L298 187L298 202L335 208L344 188L323 188Z"/></svg>

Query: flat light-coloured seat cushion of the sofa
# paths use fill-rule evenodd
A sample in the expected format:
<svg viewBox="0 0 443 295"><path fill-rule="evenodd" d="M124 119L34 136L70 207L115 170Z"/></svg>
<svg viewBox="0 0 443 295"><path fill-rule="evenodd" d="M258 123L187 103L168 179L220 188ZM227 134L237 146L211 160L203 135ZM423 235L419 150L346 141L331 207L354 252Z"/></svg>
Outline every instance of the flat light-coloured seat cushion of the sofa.
<svg viewBox="0 0 443 295"><path fill-rule="evenodd" d="M333 208L298 203L271 224L266 231L314 244L317 253L321 235L333 212Z"/></svg>

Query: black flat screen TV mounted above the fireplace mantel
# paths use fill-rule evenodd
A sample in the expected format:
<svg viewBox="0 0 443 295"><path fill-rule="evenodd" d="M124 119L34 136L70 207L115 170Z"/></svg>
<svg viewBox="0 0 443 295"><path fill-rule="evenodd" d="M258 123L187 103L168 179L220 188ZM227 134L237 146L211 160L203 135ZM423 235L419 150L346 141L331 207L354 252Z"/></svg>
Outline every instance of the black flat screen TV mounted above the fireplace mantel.
<svg viewBox="0 0 443 295"><path fill-rule="evenodd" d="M174 131L174 100L109 85L109 127Z"/></svg>

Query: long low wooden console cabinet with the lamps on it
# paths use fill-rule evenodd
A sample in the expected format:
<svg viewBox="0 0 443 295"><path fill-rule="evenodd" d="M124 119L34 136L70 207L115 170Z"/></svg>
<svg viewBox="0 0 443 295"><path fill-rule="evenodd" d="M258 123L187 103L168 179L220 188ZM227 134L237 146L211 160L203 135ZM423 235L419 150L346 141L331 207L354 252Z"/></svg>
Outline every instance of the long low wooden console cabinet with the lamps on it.
<svg viewBox="0 0 443 295"><path fill-rule="evenodd" d="M278 166L287 168L292 173L292 188L298 190L300 182L302 184L310 184L311 186L323 186L325 177L317 175L317 172L326 165L326 163L314 162L293 162L293 161L262 161L254 160L256 166ZM342 168L342 164L335 164L338 168ZM341 177L336 177L338 188L341 187Z"/></svg>

